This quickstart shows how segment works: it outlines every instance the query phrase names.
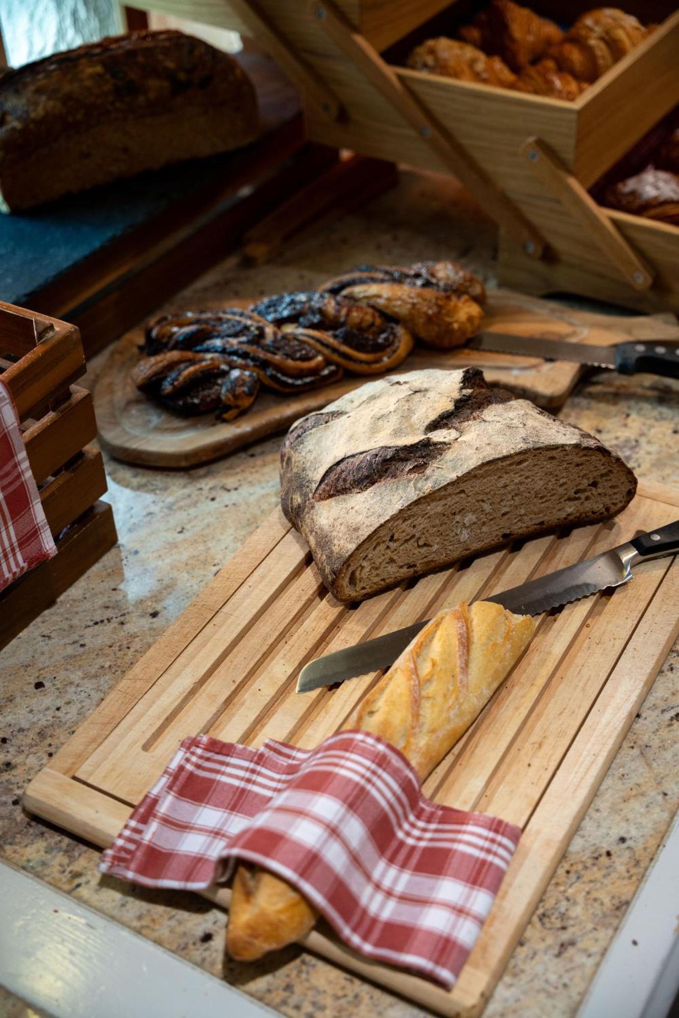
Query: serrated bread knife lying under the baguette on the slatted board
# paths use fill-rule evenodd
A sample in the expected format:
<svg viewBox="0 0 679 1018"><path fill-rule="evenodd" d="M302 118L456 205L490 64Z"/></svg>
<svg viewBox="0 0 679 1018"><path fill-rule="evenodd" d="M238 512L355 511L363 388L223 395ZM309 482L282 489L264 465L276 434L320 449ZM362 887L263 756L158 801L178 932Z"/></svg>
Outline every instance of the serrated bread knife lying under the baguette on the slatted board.
<svg viewBox="0 0 679 1018"><path fill-rule="evenodd" d="M483 601L494 601L516 615L540 615L552 608L560 608L580 598L587 598L599 590L621 586L632 579L632 564L659 559L679 552L679 520L659 530L639 534L627 544L603 552L584 562L566 566L556 572L528 580L520 586ZM344 682L345 679L366 675L381 668L388 668L397 660L420 629L427 624L415 622L412 626L377 636L335 651L323 658L316 658L305 665L297 683L298 693L306 693L320 686Z"/></svg>

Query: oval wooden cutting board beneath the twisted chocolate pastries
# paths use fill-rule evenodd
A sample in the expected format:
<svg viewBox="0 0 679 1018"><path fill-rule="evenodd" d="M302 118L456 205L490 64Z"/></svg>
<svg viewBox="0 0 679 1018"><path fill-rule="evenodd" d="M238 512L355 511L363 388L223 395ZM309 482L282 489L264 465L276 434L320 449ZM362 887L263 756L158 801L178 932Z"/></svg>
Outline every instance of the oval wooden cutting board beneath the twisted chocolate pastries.
<svg viewBox="0 0 679 1018"><path fill-rule="evenodd" d="M247 306L248 303L247 300L213 301L207 306ZM612 318L576 312L512 290L490 291L483 327L497 332L539 335L545 339L568 338L574 343L616 343L630 336L676 338L679 335L676 327L645 316ZM370 381L365 376L346 376L342 382L325 389L294 396L262 391L253 408L231 421L216 421L210 413L179 417L143 396L129 380L143 339L144 331L139 328L116 343L94 393L102 445L116 459L127 463L187 467L217 459L256 439L286 431L298 417L320 409L343 393ZM488 382L550 408L562 405L582 372L579 364L566 361L478 350L430 350L418 346L397 373L470 364L482 367Z"/></svg>

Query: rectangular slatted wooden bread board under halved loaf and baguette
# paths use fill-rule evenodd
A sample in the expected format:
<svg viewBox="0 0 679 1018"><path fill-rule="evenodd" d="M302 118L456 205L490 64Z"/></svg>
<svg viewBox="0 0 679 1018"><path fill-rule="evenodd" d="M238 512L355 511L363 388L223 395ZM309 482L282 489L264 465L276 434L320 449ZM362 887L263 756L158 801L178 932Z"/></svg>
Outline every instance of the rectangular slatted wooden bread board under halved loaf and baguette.
<svg viewBox="0 0 679 1018"><path fill-rule="evenodd" d="M299 695L301 666L337 649L571 564L679 516L679 491L641 486L616 520L543 536L364 602L336 603L279 511L205 587L31 783L32 812L98 845L179 741L197 732L313 746L376 680ZM613 595L542 617L526 655L425 783L434 799L524 831L483 931L451 993L368 963L326 930L309 949L446 1015L476 1015L679 631L679 561L635 568ZM227 905L228 891L212 897Z"/></svg>

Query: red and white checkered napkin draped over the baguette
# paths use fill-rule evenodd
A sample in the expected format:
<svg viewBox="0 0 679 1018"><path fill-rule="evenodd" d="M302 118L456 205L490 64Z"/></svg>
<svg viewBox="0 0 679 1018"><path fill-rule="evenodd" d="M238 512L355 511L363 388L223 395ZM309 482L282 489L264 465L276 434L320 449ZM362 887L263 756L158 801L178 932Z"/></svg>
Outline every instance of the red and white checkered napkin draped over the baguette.
<svg viewBox="0 0 679 1018"><path fill-rule="evenodd" d="M405 756L367 732L310 751L199 735L185 739L101 869L198 890L249 859L301 891L351 948L449 988L520 834L425 799Z"/></svg>

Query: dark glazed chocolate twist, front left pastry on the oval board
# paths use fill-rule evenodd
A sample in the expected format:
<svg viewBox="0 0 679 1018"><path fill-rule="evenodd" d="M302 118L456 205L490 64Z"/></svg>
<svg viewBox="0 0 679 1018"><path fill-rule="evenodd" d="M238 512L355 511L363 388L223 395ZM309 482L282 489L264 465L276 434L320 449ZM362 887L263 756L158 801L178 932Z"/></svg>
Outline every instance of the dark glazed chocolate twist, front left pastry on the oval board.
<svg viewBox="0 0 679 1018"><path fill-rule="evenodd" d="M323 329L283 331L240 308L161 316L147 328L147 355L134 369L133 382L178 413L215 412L231 420L252 405L261 385L306 392L338 381L345 367L377 374L410 353L409 333L370 307L316 293L277 299L302 308L311 307L311 298L325 306L322 315L310 315L309 324ZM334 332L325 331L332 327Z"/></svg>

